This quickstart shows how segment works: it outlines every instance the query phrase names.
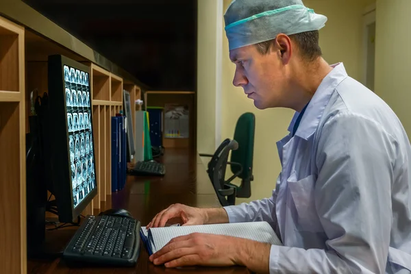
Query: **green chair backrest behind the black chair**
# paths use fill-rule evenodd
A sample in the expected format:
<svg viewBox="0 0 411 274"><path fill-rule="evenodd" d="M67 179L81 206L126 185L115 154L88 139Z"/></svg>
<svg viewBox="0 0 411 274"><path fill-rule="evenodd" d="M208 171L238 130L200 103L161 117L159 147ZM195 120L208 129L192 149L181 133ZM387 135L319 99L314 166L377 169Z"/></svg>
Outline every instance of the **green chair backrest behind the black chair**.
<svg viewBox="0 0 411 274"><path fill-rule="evenodd" d="M251 112L242 114L237 121L234 132L234 140L238 142L238 149L232 151L231 162L238 162L242 166L242 172L238 177L249 179L253 173L254 132L256 128L256 116ZM240 171L240 166L231 165L232 173Z"/></svg>

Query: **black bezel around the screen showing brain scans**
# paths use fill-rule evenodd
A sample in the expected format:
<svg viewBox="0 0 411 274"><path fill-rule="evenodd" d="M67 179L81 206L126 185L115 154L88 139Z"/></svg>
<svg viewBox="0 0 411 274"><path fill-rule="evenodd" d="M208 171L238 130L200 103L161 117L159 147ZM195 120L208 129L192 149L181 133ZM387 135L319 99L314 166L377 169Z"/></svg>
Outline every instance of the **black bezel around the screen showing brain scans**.
<svg viewBox="0 0 411 274"><path fill-rule="evenodd" d="M64 79L64 65L84 71L88 73L88 88L90 100L90 121L93 125L93 105L92 105L92 90L91 69L85 64L81 64L63 55L49 56L49 101L51 107L51 133L53 133L53 186L55 188L55 199L58 205L59 220L62 222L70 222L77 218L86 207L91 203L92 199L97 196L99 182L97 179L96 170L96 150L95 136L93 126L91 129L90 138L92 138L92 157L93 168L95 172L95 188L93 188L86 197L74 207L73 184L71 182L71 160L69 146L69 128L67 123L67 107L66 107L66 82ZM61 134L61 135L60 135ZM65 138L63 137L63 134ZM60 176L58 175L60 173ZM59 179L60 177L60 179Z"/></svg>

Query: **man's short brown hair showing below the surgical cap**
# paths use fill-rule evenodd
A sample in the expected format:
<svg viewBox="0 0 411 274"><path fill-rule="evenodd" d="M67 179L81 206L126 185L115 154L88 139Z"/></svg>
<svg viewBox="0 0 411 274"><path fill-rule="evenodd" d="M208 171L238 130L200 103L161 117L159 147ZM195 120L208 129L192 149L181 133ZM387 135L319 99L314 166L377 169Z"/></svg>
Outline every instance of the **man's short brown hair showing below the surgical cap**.
<svg viewBox="0 0 411 274"><path fill-rule="evenodd" d="M319 45L320 35L318 30L292 34L289 37L299 48L301 57L304 60L312 62L316 58L319 58L321 57L321 55L323 55L323 53L321 52L321 47ZM273 41L275 41L275 39L256 44L258 52L260 52L262 55L269 53L269 49L271 45L273 45Z"/></svg>

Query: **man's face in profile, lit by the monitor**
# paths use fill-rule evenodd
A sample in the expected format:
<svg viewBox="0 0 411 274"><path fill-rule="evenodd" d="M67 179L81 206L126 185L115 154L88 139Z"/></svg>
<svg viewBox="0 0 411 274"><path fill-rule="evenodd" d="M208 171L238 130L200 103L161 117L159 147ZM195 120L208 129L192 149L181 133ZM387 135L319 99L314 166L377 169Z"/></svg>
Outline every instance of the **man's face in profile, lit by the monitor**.
<svg viewBox="0 0 411 274"><path fill-rule="evenodd" d="M229 58L236 64L234 86L241 86L256 108L283 106L287 89L286 68L281 53L271 49L262 55L255 45L233 49Z"/></svg>

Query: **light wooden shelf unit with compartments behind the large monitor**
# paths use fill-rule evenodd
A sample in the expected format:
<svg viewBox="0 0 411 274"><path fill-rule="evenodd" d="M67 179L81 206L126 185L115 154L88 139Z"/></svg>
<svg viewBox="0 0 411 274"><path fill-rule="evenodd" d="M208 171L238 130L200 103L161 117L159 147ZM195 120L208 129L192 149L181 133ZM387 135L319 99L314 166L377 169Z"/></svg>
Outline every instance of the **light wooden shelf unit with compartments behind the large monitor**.
<svg viewBox="0 0 411 274"><path fill-rule="evenodd" d="M48 92L47 60L54 54L90 66L98 195L82 214L99 214L111 206L111 116L123 110L123 86L128 80L0 16L0 219L8 221L0 228L0 256L7 262L0 265L0 273L27 273L25 134L30 93ZM134 103L140 99L140 88L127 83Z"/></svg>

